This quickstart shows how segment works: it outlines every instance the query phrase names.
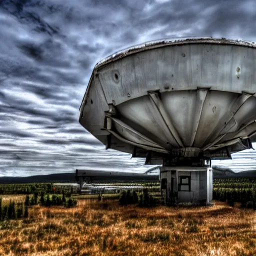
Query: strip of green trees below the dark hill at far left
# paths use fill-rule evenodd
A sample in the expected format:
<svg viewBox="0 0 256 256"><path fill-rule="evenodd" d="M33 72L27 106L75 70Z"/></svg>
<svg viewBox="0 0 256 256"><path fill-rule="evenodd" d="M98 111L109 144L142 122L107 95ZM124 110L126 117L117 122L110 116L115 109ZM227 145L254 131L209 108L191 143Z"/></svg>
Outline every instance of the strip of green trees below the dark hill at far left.
<svg viewBox="0 0 256 256"><path fill-rule="evenodd" d="M72 185L55 185L53 183L20 183L0 184L0 194L32 194L32 193L56 193L72 194L76 189Z"/></svg>

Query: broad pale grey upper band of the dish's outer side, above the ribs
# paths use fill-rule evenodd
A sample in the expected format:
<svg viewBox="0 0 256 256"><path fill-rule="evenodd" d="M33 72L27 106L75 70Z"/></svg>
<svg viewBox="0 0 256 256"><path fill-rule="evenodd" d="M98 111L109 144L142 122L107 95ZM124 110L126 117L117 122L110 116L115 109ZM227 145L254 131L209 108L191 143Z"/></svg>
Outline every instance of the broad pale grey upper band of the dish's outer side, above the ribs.
<svg viewBox="0 0 256 256"><path fill-rule="evenodd" d="M255 93L254 48L217 44L165 46L123 57L98 70L108 103L147 91L197 89ZM115 74L117 74L115 79Z"/></svg>

